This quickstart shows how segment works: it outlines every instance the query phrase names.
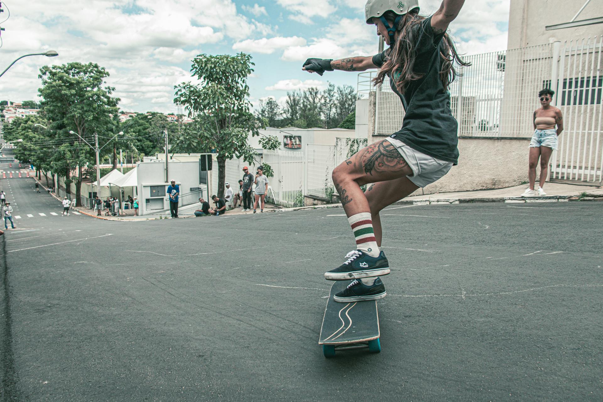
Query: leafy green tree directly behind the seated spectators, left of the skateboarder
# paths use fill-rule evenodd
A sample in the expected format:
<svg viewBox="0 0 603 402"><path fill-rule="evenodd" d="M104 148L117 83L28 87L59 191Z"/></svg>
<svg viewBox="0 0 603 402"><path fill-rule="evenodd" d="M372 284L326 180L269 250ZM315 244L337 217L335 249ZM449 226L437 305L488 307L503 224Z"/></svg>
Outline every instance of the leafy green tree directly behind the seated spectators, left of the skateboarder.
<svg viewBox="0 0 603 402"><path fill-rule="evenodd" d="M174 143L185 152L215 149L218 152L218 196L224 195L226 160L243 157L252 163L254 150L247 143L248 135L259 135L260 123L250 112L247 77L253 69L251 56L201 54L192 60L193 77L201 85L181 83L174 103L185 105L195 126L180 133Z"/></svg>

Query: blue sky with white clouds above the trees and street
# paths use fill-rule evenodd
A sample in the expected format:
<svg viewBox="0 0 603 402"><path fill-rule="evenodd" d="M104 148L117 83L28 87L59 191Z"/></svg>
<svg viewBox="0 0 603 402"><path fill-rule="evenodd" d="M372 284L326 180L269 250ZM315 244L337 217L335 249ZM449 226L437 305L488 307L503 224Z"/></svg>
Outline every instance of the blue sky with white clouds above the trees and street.
<svg viewBox="0 0 603 402"><path fill-rule="evenodd" d="M421 14L441 0L420 0ZM301 71L306 58L344 58L377 53L374 25L364 19L365 0L8 0L0 26L0 69L21 55L55 50L57 57L17 61L0 78L0 99L39 100L39 69L72 61L98 63L110 73L125 111L176 108L174 85L194 81L198 54L253 56L250 100L327 84L356 88L357 72ZM510 0L467 1L450 24L459 52L507 48ZM2 22L8 17L10 18Z"/></svg>

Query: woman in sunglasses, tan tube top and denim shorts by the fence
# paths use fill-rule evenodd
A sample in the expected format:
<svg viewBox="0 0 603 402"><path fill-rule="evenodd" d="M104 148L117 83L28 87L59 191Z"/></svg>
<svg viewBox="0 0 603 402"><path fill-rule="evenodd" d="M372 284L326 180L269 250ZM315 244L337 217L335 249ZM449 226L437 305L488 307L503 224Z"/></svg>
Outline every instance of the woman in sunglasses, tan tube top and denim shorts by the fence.
<svg viewBox="0 0 603 402"><path fill-rule="evenodd" d="M548 88L538 92L541 107L534 111L534 136L529 143L529 187L522 196L546 195L542 187L549 174L549 159L551 159L552 152L557 149L557 137L563 131L561 110L551 106L553 95L555 92ZM538 159L540 159L540 186L534 189Z"/></svg>

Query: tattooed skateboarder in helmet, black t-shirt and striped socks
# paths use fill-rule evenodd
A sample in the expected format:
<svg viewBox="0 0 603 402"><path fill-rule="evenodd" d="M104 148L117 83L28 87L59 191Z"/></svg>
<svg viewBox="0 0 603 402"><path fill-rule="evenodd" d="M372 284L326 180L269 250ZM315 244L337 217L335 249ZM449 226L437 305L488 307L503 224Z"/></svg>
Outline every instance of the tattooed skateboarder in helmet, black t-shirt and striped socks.
<svg viewBox="0 0 603 402"><path fill-rule="evenodd" d="M385 297L378 278L390 273L383 251L379 211L443 177L458 159L456 120L450 112L449 84L459 58L446 34L464 0L444 0L429 17L418 14L418 0L368 0L367 24L390 46L373 57L341 60L309 58L303 70L365 71L380 68L375 84L390 78L406 115L399 131L356 152L333 170L333 183L356 237L356 250L346 262L324 274L329 280L349 280L335 300L377 300ZM374 183L365 193L360 186Z"/></svg>

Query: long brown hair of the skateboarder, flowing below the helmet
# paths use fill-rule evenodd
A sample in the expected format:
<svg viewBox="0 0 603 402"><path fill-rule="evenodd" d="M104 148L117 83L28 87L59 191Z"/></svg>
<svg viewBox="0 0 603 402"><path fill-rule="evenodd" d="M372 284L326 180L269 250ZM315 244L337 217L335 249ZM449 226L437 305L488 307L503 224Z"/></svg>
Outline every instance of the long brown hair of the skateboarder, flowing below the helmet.
<svg viewBox="0 0 603 402"><path fill-rule="evenodd" d="M397 14L393 11L386 11L383 16L390 25L393 25ZM421 25L423 20L425 20L425 17L420 16L416 10L409 11L404 15L394 34L394 46L388 54L387 61L381 66L377 77L373 79L374 84L382 84L386 75L389 75L396 83L398 92L404 93L406 86L411 81L416 81L423 77L423 74L414 72L414 64L417 58L415 44L421 35L421 28L418 25ZM456 72L454 67L455 61L459 66L470 66L471 63L461 60L458 52L456 52L454 42L452 42L447 33L444 34L442 40L444 41L444 48L440 52L440 57L442 58L440 79L444 84L444 89L448 89L450 83L461 75L459 72Z"/></svg>

